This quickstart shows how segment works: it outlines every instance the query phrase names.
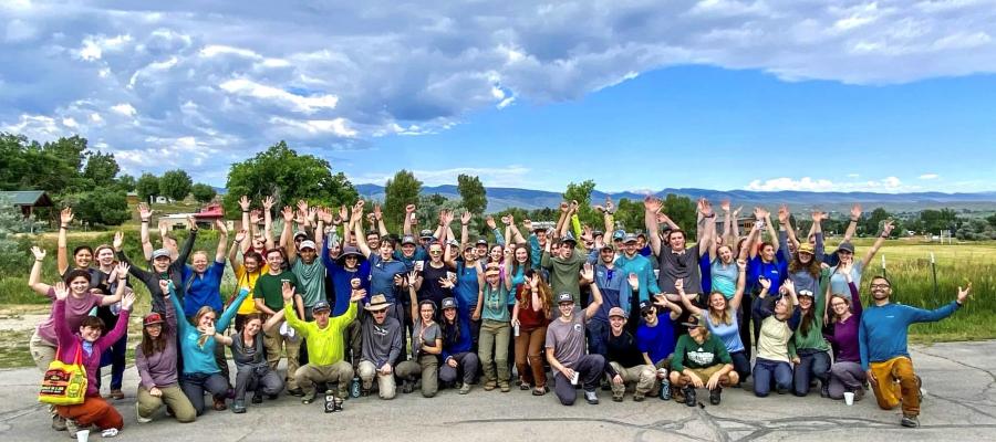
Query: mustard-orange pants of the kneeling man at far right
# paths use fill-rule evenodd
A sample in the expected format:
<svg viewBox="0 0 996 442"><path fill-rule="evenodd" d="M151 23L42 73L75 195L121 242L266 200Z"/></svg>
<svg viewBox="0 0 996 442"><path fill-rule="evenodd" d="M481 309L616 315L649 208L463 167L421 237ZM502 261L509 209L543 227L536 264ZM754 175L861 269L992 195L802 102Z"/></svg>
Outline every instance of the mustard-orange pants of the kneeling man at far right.
<svg viewBox="0 0 996 442"><path fill-rule="evenodd" d="M869 364L875 381L871 382L875 400L883 410L892 410L903 403L903 414L920 415L920 383L913 372L913 361L905 356L884 362Z"/></svg>

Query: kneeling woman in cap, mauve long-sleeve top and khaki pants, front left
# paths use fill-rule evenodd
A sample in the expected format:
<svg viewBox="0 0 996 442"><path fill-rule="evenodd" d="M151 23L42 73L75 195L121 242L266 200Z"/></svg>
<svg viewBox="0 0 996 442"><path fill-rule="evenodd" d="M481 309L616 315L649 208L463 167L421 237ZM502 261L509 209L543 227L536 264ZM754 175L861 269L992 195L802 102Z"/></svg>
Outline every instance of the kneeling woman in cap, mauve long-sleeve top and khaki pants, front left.
<svg viewBox="0 0 996 442"><path fill-rule="evenodd" d="M169 296L169 282L159 281L163 296ZM179 387L176 369L176 309L166 304L163 314L153 312L142 319L142 344L135 347L135 368L138 369L138 401L135 410L138 423L152 422L164 403L178 422L194 422L197 410Z"/></svg>

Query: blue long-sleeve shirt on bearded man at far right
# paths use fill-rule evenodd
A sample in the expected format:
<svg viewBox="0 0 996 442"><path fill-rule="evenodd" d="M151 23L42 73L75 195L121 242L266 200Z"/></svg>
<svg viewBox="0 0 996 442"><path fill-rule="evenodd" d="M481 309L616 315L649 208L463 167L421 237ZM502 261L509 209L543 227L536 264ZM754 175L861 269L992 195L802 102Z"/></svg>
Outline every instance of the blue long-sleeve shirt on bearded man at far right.
<svg viewBox="0 0 996 442"><path fill-rule="evenodd" d="M870 362L882 362L899 356L910 357L906 334L914 323L933 323L944 319L958 309L958 303L933 311L889 303L881 307L870 306L861 315L858 341L861 344L861 368L868 370Z"/></svg>

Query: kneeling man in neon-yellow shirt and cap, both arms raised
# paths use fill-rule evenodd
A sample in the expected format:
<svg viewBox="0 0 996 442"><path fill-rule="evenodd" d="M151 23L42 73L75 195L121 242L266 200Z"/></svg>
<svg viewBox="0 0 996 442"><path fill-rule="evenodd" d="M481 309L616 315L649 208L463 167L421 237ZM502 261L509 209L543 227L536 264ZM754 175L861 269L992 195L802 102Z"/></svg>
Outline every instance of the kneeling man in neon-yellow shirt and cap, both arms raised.
<svg viewBox="0 0 996 442"><path fill-rule="evenodd" d="M345 339L343 332L346 326L356 319L356 303L366 296L363 290L354 290L350 297L350 309L345 315L330 318L332 307L328 302L319 301L314 305L314 322L305 323L298 317L291 304L291 299L298 296L290 282L284 282L281 288L283 294L283 316L287 324L297 330L308 345L308 365L298 368L294 379L304 389L302 403L311 403L315 397L315 386L322 382L338 382L339 397L346 398L350 394L350 381L353 379L353 367L343 360Z"/></svg>

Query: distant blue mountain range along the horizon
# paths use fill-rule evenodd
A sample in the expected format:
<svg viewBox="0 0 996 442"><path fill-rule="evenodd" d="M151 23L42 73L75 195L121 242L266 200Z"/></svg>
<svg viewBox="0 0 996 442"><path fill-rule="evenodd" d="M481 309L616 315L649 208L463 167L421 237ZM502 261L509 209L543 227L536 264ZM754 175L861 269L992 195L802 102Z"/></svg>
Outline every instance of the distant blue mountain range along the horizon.
<svg viewBox="0 0 996 442"><path fill-rule="evenodd" d="M485 188L488 197L488 212L497 212L509 207L522 209L553 208L563 199L559 192L544 190L516 189L488 187ZM378 185L357 185L356 191L365 198L384 200L384 187ZM460 193L456 186L423 187L423 194L439 193L448 199L459 199ZM891 212L916 211L923 209L952 208L956 210L996 210L996 192L978 193L943 193L943 192L916 192L916 193L874 193L874 192L803 192L803 191L771 191L757 192L749 190L707 190L707 189L663 189L654 192L658 197L668 193L697 199L705 197L713 202L729 199L733 204L751 207L776 204L789 204L792 211L802 211L810 208L820 208L829 211L847 211L851 204L860 202L867 211L882 207ZM605 193L599 190L591 192L592 203L601 203L605 196L619 201L622 198L630 200L643 200L644 193L615 192Z"/></svg>

